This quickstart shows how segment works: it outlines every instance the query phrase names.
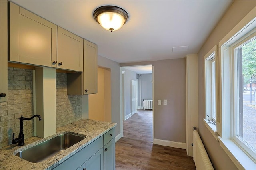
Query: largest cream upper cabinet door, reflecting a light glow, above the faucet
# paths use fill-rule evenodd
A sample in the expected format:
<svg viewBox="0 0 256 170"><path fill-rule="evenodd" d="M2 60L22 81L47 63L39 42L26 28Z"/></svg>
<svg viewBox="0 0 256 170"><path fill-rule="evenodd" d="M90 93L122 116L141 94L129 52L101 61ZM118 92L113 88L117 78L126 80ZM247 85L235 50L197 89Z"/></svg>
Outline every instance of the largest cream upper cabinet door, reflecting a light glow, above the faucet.
<svg viewBox="0 0 256 170"><path fill-rule="evenodd" d="M57 26L10 2L10 61L55 67Z"/></svg>

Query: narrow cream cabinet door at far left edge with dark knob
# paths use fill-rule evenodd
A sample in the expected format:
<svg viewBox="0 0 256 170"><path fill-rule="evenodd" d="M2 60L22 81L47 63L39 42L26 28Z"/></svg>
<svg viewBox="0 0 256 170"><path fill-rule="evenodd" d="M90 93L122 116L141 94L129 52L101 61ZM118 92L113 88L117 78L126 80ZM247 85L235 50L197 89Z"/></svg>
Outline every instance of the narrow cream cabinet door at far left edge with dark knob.
<svg viewBox="0 0 256 170"><path fill-rule="evenodd" d="M0 1L0 102L7 101L8 11L7 1Z"/></svg>

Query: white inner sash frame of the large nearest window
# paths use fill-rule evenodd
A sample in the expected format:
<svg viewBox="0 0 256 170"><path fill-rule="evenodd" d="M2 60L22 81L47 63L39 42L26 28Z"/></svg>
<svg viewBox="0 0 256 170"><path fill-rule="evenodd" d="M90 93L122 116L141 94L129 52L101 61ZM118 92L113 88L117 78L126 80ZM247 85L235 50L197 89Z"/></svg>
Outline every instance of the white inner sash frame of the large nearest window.
<svg viewBox="0 0 256 170"><path fill-rule="evenodd" d="M256 160L256 150L250 146L242 137L243 133L243 101L241 89L243 89L242 82L242 46L246 43L254 40L256 38L256 32L250 32L246 34L240 40L237 40L232 45L230 45L230 61L232 61L232 71L230 77L231 81L231 101L233 103L231 116L233 117L232 121L232 130L231 130L231 140L233 140L238 146L240 146L245 152L248 153L254 161ZM242 88L241 88L242 87Z"/></svg>

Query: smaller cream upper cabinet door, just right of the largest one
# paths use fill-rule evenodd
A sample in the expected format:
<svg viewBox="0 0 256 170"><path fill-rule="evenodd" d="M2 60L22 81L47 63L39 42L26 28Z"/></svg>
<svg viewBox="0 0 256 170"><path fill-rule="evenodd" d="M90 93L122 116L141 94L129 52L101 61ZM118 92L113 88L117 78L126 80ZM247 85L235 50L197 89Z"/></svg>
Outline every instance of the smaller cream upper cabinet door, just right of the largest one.
<svg viewBox="0 0 256 170"><path fill-rule="evenodd" d="M58 26L57 68L83 71L84 39Z"/></svg>

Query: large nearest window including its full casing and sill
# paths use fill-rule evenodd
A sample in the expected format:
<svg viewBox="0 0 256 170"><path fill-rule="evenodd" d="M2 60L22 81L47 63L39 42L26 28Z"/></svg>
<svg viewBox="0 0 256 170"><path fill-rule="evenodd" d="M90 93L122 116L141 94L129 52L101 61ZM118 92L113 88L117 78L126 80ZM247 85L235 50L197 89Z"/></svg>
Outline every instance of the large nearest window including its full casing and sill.
<svg viewBox="0 0 256 170"><path fill-rule="evenodd" d="M256 8L220 42L220 146L238 169L256 167ZM218 73L216 73L218 74ZM252 99L251 99L252 98ZM217 112L218 113L218 112Z"/></svg>

